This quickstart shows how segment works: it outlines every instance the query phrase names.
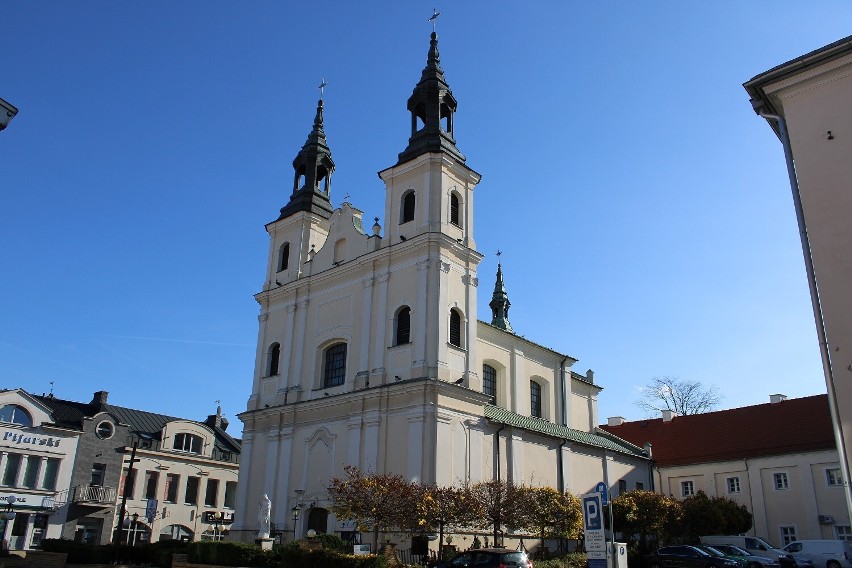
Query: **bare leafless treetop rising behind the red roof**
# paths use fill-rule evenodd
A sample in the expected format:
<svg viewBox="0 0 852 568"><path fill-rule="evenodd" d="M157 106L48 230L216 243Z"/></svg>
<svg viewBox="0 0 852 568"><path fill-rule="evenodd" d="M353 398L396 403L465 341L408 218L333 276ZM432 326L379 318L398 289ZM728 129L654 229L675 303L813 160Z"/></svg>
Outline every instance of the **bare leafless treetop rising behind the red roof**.
<svg viewBox="0 0 852 568"><path fill-rule="evenodd" d="M654 377L651 384L642 387L636 406L649 415L663 410L673 410L680 415L701 414L715 410L722 398L715 385L677 377Z"/></svg>

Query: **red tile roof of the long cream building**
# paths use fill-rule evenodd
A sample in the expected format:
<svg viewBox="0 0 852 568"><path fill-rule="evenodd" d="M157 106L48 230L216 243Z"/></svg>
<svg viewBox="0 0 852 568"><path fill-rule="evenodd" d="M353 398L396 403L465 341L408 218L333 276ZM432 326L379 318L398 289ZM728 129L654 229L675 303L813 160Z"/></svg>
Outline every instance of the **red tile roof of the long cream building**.
<svg viewBox="0 0 852 568"><path fill-rule="evenodd" d="M601 426L637 446L651 442L658 465L736 460L836 449L828 396Z"/></svg>

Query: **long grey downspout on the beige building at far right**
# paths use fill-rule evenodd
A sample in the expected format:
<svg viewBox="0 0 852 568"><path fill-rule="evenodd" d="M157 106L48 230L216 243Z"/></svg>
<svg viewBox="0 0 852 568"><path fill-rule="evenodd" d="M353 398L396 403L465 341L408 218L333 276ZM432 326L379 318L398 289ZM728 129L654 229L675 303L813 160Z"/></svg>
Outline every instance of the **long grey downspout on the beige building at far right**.
<svg viewBox="0 0 852 568"><path fill-rule="evenodd" d="M837 393L834 390L834 372L831 368L831 353L828 340L825 335L825 321L822 317L822 306L819 301L819 289L817 288L816 273L814 271L813 257L811 256L811 245L808 240L808 228L805 224L805 213L802 208L802 196L799 192L799 180L796 177L796 165L793 161L793 149L790 146L790 137L787 133L787 121L783 116L769 114L763 110L763 102L752 99L754 111L765 118L773 120L778 124L778 137L784 148L784 159L787 162L787 176L790 178L790 189L793 192L793 205L796 210L796 221L799 223L799 237L802 241L802 255L805 257L805 271L808 276L808 288L811 292L811 307L814 311L816 321L817 339L819 340L819 354L822 359L822 370L825 376L825 385L828 389L828 408L831 411L831 424L834 429L834 440L837 444L837 454L840 458L840 471L843 475L843 494L846 497L846 512L852 517L852 491L850 491L849 462L846 456L846 441L843 438L843 429L840 427L840 413L838 411Z"/></svg>

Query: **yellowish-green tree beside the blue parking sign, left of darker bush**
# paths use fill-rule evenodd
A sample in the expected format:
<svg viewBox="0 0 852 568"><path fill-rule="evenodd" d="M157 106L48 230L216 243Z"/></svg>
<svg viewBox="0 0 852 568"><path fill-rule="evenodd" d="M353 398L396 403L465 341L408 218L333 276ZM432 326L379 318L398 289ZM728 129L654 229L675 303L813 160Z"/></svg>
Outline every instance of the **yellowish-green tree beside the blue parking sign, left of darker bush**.
<svg viewBox="0 0 852 568"><path fill-rule="evenodd" d="M677 499L654 491L628 491L612 501L615 528L629 543L638 542L639 553L646 554L652 543L671 538L681 519Z"/></svg>

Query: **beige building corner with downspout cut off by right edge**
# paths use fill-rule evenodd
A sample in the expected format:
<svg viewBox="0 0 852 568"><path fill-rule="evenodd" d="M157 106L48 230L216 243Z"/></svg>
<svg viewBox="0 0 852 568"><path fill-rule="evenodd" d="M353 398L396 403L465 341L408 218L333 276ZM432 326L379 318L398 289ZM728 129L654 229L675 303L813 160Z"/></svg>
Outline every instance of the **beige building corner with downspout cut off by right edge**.
<svg viewBox="0 0 852 568"><path fill-rule="evenodd" d="M852 36L744 86L787 158L845 499L852 510Z"/></svg>

